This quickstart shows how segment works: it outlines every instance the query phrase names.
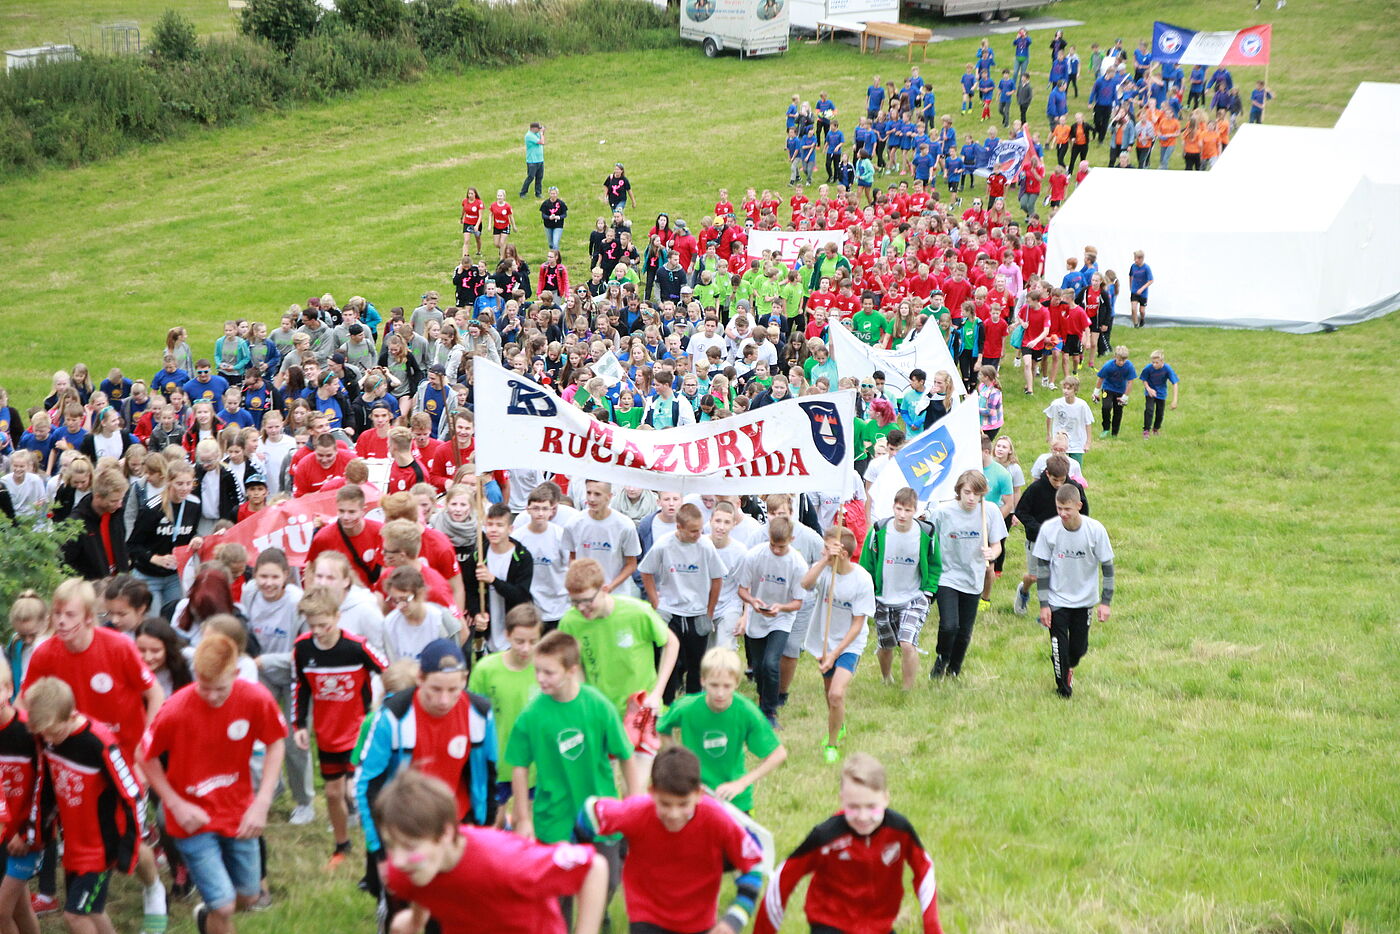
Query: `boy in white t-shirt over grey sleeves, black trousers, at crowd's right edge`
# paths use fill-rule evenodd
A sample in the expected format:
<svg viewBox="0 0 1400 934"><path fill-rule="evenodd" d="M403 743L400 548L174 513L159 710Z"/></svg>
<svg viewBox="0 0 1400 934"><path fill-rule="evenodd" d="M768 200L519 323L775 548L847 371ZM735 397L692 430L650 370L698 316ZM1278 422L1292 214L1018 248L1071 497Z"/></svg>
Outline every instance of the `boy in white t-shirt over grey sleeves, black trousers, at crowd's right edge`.
<svg viewBox="0 0 1400 934"><path fill-rule="evenodd" d="M1072 483L1056 492L1056 517L1040 527L1035 549L1040 625L1050 630L1050 662L1061 697L1074 693L1074 667L1089 650L1089 608L1098 605L1098 620L1106 623L1113 602L1113 546L1103 522L1079 511L1081 500Z"/></svg>

